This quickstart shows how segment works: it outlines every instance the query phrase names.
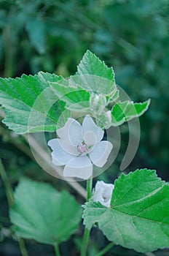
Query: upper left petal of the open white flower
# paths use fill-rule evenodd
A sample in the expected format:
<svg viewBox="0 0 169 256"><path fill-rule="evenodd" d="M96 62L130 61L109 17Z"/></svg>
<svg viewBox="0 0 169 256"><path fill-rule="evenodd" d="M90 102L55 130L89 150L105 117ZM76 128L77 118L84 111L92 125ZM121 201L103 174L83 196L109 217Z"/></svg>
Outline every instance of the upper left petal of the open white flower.
<svg viewBox="0 0 169 256"><path fill-rule="evenodd" d="M68 118L64 127L57 130L57 134L60 139L70 141L73 146L77 146L83 139L82 126L74 118Z"/></svg>

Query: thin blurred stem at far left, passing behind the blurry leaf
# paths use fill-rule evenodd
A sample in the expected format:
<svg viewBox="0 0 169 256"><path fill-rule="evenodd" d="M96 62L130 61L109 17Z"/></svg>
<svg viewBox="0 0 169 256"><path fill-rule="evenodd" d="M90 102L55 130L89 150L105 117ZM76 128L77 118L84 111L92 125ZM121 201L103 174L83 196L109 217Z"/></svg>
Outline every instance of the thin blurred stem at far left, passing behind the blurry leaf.
<svg viewBox="0 0 169 256"><path fill-rule="evenodd" d="M0 159L0 175L1 175L2 181L4 182L4 187L6 190L9 207L11 207L14 204L14 193L13 193L12 186L9 182L9 178L7 177L7 173L4 170L4 165L2 164L1 159ZM28 256L28 252L25 249L25 242L23 238L18 238L18 243L20 246L20 252L22 256Z"/></svg>

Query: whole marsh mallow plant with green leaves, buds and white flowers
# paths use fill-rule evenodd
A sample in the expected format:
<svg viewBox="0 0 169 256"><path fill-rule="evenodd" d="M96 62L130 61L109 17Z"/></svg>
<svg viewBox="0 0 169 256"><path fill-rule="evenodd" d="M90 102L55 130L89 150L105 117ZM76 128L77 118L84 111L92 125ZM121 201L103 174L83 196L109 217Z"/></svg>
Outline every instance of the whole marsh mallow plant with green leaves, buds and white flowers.
<svg viewBox="0 0 169 256"><path fill-rule="evenodd" d="M115 244L143 253L169 247L169 186L155 170L145 167L122 173L114 184L98 181L93 189L93 168L102 170L116 149L116 143L106 137L109 129L141 116L149 102L135 103L129 97L122 101L113 69L90 50L70 78L39 72L0 79L3 123L19 135L51 135L45 151L36 150L36 154L55 171L61 167L61 178L68 184L72 181L79 195L87 195L80 206L69 192L57 191L50 184L28 178L20 181L9 211L19 241L50 244L56 255L62 255L60 243L77 235L83 219L82 256L90 249L90 230L95 225L110 241L101 252L98 249L98 255ZM38 143L33 149L41 148ZM67 177L87 180L86 192L80 182Z"/></svg>

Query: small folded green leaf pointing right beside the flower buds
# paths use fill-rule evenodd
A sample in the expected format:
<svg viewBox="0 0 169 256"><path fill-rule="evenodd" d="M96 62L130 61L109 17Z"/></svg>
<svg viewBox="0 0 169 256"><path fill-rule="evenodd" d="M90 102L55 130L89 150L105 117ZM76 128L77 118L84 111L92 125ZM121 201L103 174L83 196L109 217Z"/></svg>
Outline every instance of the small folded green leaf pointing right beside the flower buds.
<svg viewBox="0 0 169 256"><path fill-rule="evenodd" d="M143 115L149 108L150 99L146 102L134 103L127 100L126 102L117 102L111 110L111 124L116 127L129 121L132 118Z"/></svg>

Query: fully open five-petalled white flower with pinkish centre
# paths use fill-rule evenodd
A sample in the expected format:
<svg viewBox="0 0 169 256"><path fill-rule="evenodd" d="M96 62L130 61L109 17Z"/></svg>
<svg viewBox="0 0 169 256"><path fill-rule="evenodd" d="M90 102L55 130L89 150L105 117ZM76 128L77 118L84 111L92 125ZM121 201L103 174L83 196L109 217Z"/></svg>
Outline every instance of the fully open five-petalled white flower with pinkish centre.
<svg viewBox="0 0 169 256"><path fill-rule="evenodd" d="M112 149L109 141L103 139L103 129L97 127L93 118L85 116L82 125L74 118L68 118L64 127L57 130L60 138L52 139L54 165L65 165L63 176L87 179L93 174L93 164L105 165Z"/></svg>

